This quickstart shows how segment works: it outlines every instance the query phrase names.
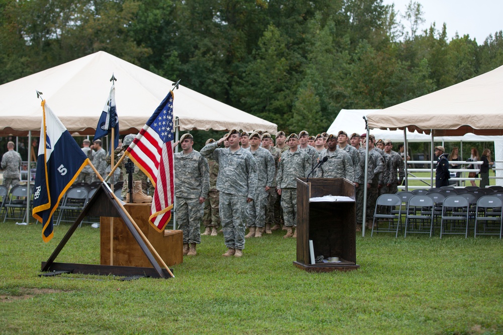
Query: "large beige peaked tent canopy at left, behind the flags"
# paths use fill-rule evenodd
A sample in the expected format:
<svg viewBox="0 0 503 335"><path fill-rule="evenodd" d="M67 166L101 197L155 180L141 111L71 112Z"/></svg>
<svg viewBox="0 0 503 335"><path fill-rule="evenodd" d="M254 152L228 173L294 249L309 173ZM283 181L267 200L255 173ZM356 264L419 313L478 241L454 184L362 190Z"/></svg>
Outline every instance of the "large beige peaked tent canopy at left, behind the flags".
<svg viewBox="0 0 503 335"><path fill-rule="evenodd" d="M28 131L40 131L42 108L36 90L44 93L43 98L69 132L94 135L112 74L117 78L115 98L121 134L139 132L173 88L173 81L99 51L0 85L0 135L25 136ZM174 91L174 113L182 131L277 131L271 122L179 87Z"/></svg>

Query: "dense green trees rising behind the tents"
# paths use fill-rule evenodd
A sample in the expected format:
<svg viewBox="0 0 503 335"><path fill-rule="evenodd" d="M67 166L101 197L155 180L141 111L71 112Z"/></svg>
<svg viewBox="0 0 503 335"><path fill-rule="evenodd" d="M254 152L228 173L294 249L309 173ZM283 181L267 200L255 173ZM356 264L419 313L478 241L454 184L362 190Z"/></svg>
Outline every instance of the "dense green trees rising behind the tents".
<svg viewBox="0 0 503 335"><path fill-rule="evenodd" d="M328 128L342 108L385 108L503 64L424 30L423 8L382 0L0 0L0 84L103 50L278 124Z"/></svg>

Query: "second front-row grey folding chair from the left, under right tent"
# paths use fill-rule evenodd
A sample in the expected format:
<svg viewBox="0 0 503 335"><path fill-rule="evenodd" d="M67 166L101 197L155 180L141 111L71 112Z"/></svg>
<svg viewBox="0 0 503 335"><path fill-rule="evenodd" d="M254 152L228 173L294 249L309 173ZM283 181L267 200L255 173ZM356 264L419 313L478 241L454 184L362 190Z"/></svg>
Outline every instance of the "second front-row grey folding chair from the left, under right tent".
<svg viewBox="0 0 503 335"><path fill-rule="evenodd" d="M434 202L428 195L414 195L408 201L405 218L405 237L407 233L433 234Z"/></svg>

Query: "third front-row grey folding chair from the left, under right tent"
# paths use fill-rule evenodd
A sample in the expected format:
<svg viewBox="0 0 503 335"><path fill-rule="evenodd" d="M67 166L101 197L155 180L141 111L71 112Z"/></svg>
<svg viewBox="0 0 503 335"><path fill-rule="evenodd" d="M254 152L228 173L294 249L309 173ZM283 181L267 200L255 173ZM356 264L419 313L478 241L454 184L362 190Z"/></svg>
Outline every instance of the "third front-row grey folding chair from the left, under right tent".
<svg viewBox="0 0 503 335"><path fill-rule="evenodd" d="M462 195L451 195L444 199L442 205L442 221L440 224L440 238L445 234L464 234L468 237L468 215L470 204ZM447 222L450 226L446 227ZM464 222L464 225L462 223Z"/></svg>

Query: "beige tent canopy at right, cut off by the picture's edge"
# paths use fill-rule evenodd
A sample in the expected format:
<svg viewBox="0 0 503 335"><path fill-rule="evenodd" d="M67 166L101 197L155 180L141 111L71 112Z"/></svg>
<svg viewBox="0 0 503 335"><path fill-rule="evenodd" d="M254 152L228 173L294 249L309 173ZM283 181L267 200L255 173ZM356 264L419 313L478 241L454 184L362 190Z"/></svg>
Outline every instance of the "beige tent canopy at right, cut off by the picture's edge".
<svg viewBox="0 0 503 335"><path fill-rule="evenodd" d="M371 129L435 136L503 135L503 66L436 92L370 113Z"/></svg>

